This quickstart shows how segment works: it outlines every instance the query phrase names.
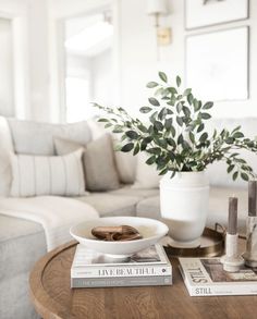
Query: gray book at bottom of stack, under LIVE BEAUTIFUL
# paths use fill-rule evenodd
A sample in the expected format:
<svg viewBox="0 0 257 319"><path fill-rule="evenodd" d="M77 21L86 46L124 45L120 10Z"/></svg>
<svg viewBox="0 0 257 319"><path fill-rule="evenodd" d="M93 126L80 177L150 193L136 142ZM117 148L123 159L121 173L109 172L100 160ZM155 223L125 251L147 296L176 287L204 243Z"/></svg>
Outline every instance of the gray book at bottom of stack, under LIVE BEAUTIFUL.
<svg viewBox="0 0 257 319"><path fill-rule="evenodd" d="M113 286L148 286L172 285L171 275L124 277L124 278L72 278L71 287L113 287Z"/></svg>

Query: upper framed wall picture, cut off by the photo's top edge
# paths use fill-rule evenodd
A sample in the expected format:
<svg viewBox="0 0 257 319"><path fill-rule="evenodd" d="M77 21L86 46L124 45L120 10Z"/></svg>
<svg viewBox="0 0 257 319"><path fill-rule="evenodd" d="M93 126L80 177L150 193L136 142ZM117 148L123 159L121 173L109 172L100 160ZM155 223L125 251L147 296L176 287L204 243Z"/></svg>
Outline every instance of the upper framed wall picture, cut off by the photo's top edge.
<svg viewBox="0 0 257 319"><path fill-rule="evenodd" d="M185 28L194 29L249 17L249 0L184 0Z"/></svg>

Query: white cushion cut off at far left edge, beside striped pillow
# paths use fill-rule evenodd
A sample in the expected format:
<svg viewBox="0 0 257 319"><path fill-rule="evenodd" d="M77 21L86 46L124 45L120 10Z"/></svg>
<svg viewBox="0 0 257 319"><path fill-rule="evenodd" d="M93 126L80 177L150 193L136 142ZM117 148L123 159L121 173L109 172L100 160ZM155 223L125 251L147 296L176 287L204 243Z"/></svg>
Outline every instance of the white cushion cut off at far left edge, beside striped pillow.
<svg viewBox="0 0 257 319"><path fill-rule="evenodd" d="M13 151L8 122L0 116L0 196L8 196L12 179L10 151Z"/></svg>

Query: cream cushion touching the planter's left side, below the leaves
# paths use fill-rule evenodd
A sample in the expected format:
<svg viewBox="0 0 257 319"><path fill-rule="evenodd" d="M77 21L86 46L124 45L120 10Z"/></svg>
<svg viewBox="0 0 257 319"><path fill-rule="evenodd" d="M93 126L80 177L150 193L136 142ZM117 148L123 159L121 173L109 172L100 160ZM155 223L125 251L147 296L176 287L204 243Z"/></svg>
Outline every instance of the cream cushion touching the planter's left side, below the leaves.
<svg viewBox="0 0 257 319"><path fill-rule="evenodd" d="M161 176L159 175L156 164L148 165L148 159L145 152L137 156L136 177L133 188L158 188Z"/></svg>

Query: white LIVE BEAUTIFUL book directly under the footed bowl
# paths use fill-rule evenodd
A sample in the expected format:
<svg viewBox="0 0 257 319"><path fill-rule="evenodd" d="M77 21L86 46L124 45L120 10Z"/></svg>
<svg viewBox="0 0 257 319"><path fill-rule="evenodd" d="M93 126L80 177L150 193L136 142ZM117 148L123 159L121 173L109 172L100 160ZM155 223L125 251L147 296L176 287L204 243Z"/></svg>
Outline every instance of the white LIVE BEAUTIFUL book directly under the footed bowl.
<svg viewBox="0 0 257 319"><path fill-rule="evenodd" d="M152 245L125 261L77 245L71 278L124 278L172 275L171 263L160 245Z"/></svg>

